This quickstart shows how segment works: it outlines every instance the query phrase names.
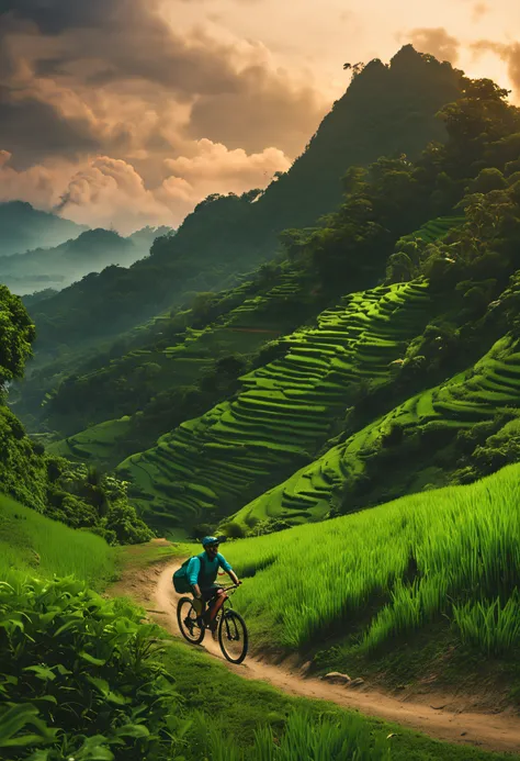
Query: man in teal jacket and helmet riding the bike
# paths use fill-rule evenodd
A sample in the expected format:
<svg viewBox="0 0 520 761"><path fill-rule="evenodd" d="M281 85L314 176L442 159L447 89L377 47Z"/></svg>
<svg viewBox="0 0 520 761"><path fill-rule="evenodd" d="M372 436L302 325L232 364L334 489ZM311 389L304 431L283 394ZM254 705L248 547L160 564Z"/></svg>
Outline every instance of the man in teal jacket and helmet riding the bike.
<svg viewBox="0 0 520 761"><path fill-rule="evenodd" d="M219 553L218 539L216 537L205 536L202 540L202 546L204 547L204 552L195 555L186 568L186 577L193 594L193 607L200 624L203 623L206 603L210 603L207 609L210 615L213 605L218 598L217 590L219 586L215 584L215 579L219 568L227 572L235 584L241 584L226 558Z"/></svg>

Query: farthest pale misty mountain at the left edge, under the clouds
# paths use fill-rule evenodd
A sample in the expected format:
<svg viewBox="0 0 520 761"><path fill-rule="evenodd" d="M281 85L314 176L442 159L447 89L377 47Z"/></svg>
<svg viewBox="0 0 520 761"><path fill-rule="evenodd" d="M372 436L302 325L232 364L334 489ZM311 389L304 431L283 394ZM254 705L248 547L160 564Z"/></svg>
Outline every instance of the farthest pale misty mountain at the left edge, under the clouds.
<svg viewBox="0 0 520 761"><path fill-rule="evenodd" d="M0 257L59 246L87 230L56 214L37 211L24 201L0 203Z"/></svg>

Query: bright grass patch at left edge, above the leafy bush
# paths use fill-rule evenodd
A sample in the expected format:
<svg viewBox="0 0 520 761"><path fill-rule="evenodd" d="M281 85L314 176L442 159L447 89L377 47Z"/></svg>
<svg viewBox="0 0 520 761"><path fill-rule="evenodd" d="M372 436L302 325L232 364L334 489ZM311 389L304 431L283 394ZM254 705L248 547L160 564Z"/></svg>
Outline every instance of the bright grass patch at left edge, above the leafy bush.
<svg viewBox="0 0 520 761"><path fill-rule="evenodd" d="M50 579L74 574L95 589L114 578L116 550L0 495L0 579L13 570Z"/></svg>

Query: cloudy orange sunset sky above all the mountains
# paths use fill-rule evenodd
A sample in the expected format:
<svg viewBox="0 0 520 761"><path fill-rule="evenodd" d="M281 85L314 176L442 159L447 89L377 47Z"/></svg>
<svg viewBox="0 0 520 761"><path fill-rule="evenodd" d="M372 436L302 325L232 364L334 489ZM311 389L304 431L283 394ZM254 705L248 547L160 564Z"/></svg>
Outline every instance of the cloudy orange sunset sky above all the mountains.
<svg viewBox="0 0 520 761"><path fill-rule="evenodd" d="M127 234L264 187L406 43L520 102L516 0L2 0L0 201ZM4 10L5 9L5 10Z"/></svg>

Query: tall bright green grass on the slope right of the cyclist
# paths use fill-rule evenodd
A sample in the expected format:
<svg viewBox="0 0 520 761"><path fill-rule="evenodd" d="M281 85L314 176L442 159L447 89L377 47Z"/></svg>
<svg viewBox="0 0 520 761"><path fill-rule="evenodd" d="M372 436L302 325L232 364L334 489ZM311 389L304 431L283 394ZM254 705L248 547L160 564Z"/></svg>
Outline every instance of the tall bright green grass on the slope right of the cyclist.
<svg viewBox="0 0 520 761"><path fill-rule="evenodd" d="M520 646L519 505L515 465L468 486L236 542L226 556L246 578L237 602L263 644L299 648L341 630L371 651L444 614L484 651L509 652Z"/></svg>

